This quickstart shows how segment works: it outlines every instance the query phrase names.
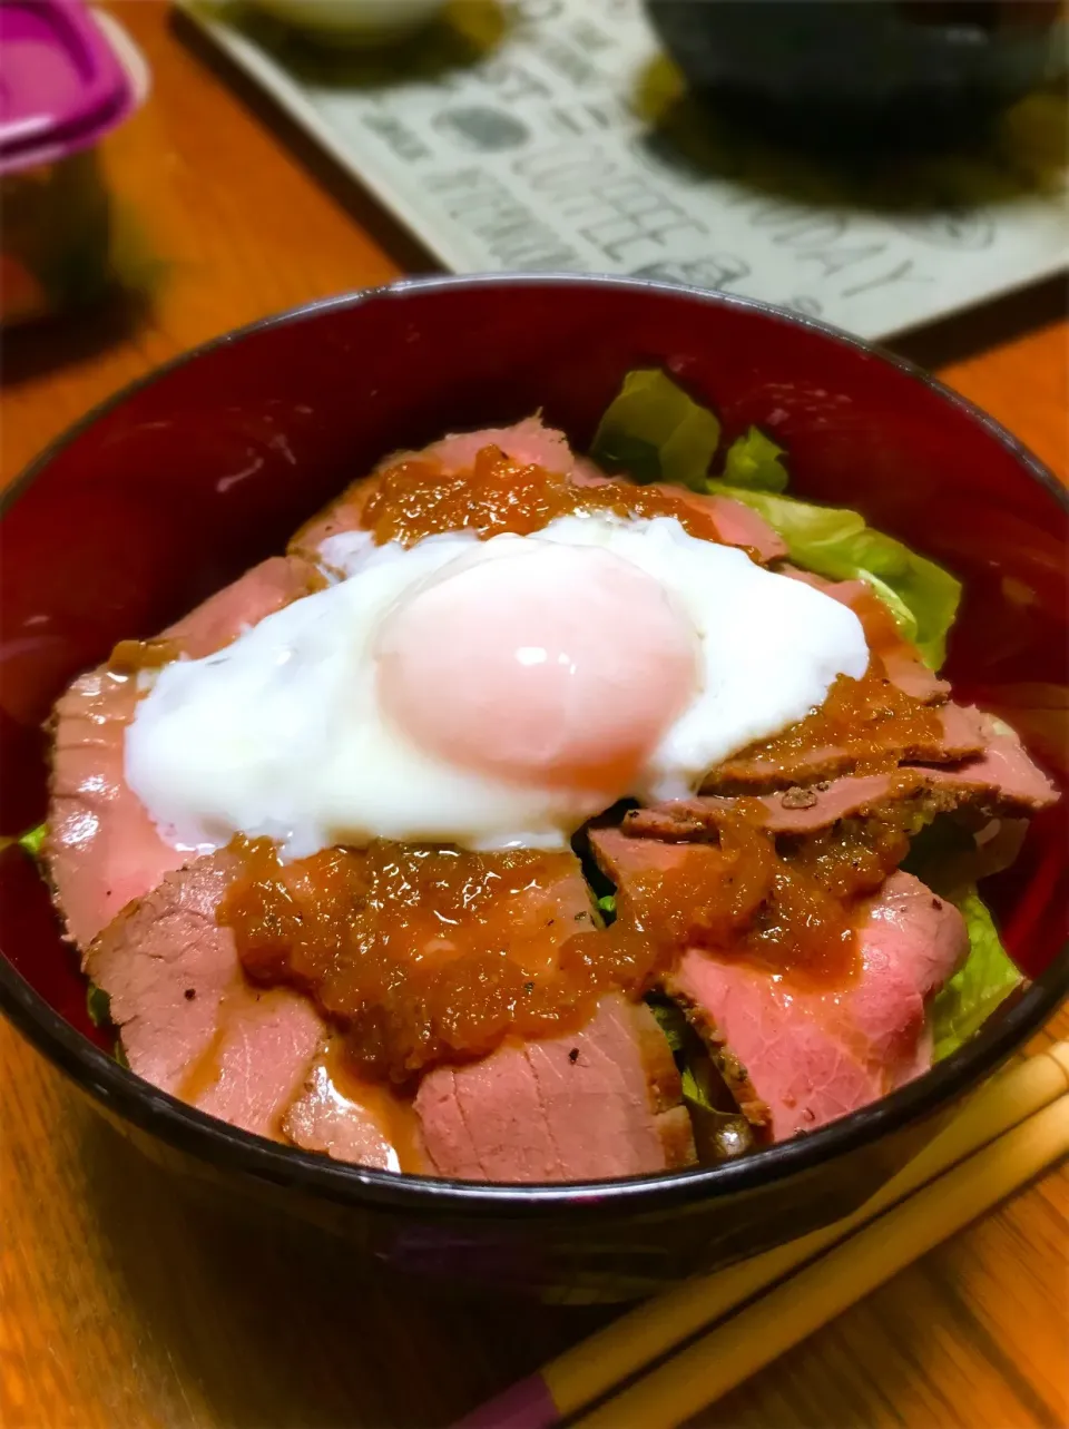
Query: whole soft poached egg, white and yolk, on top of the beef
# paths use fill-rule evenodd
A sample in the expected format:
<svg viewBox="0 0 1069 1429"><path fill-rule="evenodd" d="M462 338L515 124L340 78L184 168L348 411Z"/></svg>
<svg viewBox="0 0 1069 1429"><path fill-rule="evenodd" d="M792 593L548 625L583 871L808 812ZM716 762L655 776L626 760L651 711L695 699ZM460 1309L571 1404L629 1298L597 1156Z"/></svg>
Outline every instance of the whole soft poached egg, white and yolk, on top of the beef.
<svg viewBox="0 0 1069 1429"><path fill-rule="evenodd" d="M322 554L329 589L141 676L126 776L167 842L565 847L622 797L693 793L869 662L846 606L675 517Z"/></svg>

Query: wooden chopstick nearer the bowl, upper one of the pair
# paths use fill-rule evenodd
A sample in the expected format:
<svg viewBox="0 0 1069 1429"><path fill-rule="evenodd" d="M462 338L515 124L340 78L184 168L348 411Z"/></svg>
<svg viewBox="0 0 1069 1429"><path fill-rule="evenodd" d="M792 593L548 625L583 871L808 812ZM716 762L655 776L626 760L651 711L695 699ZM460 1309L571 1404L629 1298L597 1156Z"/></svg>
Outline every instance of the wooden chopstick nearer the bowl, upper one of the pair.
<svg viewBox="0 0 1069 1429"><path fill-rule="evenodd" d="M550 1360L457 1429L547 1429L575 1415L1068 1089L1069 1042L1059 1042L980 1087L953 1122L853 1215L726 1270L685 1280Z"/></svg>

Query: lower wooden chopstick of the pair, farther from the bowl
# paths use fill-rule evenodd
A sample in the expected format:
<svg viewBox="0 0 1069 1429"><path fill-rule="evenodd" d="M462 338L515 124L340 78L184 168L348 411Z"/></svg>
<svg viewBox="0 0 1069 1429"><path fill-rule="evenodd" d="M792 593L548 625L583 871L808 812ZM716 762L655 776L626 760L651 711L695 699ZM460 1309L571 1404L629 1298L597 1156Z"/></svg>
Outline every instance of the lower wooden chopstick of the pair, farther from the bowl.
<svg viewBox="0 0 1069 1429"><path fill-rule="evenodd" d="M1066 1153L1069 1095L575 1420L575 1429L673 1429Z"/></svg>

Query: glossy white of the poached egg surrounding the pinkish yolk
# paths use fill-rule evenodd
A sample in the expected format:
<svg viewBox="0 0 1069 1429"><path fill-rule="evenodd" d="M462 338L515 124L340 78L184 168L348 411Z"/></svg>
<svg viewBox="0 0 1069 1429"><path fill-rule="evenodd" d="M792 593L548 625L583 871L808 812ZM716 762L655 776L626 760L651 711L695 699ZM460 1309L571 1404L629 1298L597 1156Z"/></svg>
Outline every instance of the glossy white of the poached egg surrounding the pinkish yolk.
<svg viewBox="0 0 1069 1429"><path fill-rule="evenodd" d="M161 836L207 852L239 832L263 835L289 857L374 837L565 846L605 797L452 767L416 747L376 699L374 643L397 602L447 579L454 563L522 560L540 542L600 546L633 562L699 636L695 696L620 797L692 793L710 767L820 704L837 674L866 669L852 610L690 536L675 517L567 516L532 536L477 542L457 532L409 549L346 533L322 553L340 576L329 589L217 654L146 677L126 735L126 777ZM620 649L626 659L626 629Z"/></svg>

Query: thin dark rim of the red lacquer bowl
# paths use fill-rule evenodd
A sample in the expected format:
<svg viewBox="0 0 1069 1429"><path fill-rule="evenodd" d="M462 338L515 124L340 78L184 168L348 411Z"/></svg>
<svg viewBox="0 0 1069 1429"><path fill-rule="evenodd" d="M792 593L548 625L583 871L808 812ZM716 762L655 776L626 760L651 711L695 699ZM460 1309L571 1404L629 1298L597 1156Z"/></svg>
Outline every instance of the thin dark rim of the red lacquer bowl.
<svg viewBox="0 0 1069 1429"><path fill-rule="evenodd" d="M757 313L773 322L806 329L840 347L872 357L919 382L943 402L980 426L1019 464L1022 474L1043 487L1069 510L1069 489L1000 423L975 403L946 387L915 363L886 352L876 343L855 337L829 323L787 312L772 303L716 293L687 284L653 279L629 279L587 273L477 273L406 277L377 287L342 293L303 303L222 333L180 353L160 367L121 387L53 439L0 493L0 516L23 496L33 482L73 446L101 417L144 387L171 372L212 353L253 337L260 332L307 322L323 313L356 309L366 303L403 302L410 296L463 292L483 287L599 287L630 293L653 293L680 303L729 307ZM23 856L21 850L9 850ZM869 1103L816 1132L762 1147L739 1160L716 1166L629 1176L615 1180L562 1183L489 1183L447 1177L399 1175L332 1160L314 1152L269 1140L187 1106L167 1092L114 1060L61 1017L0 956L0 1010L37 1050L76 1082L96 1102L119 1113L140 1130L159 1136L177 1150L192 1153L217 1170L236 1173L283 1189L310 1192L322 1200L350 1208L379 1208L390 1212L430 1212L463 1216L496 1210L510 1219L540 1219L567 1213L605 1210L653 1213L683 1208L710 1196L732 1196L755 1186L812 1172L910 1123L920 1123L946 1109L963 1092L979 1085L1036 1033L1069 995L1069 942L1016 1003L989 1020L958 1052L936 1063L896 1092Z"/></svg>

